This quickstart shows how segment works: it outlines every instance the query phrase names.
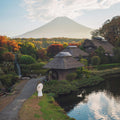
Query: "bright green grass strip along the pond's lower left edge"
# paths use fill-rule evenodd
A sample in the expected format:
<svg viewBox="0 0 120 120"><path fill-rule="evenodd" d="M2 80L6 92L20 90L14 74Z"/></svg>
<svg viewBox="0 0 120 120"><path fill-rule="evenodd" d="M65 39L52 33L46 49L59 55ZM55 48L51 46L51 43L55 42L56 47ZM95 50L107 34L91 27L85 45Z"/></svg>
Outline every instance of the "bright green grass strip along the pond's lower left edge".
<svg viewBox="0 0 120 120"><path fill-rule="evenodd" d="M64 110L56 104L54 98L47 94L41 98L39 105L44 120L74 120L69 118Z"/></svg>

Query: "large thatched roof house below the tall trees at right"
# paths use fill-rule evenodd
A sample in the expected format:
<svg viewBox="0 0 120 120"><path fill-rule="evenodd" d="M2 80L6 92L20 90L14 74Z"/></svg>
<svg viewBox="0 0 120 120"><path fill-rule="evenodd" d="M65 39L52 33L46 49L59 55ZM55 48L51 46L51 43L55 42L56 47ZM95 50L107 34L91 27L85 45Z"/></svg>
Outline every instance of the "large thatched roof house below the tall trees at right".
<svg viewBox="0 0 120 120"><path fill-rule="evenodd" d="M113 55L114 47L107 40L99 39L99 38L98 39L95 38L93 40L86 39L83 43L83 47L85 48L86 52L88 52L88 53L96 50L100 46L105 50L106 54Z"/></svg>

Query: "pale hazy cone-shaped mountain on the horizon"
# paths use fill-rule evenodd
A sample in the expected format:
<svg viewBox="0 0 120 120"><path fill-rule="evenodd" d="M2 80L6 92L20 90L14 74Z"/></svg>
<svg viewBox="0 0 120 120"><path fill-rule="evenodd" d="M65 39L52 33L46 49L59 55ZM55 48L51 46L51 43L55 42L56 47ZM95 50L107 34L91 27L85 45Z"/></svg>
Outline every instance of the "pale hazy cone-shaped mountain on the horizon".
<svg viewBox="0 0 120 120"><path fill-rule="evenodd" d="M90 38L91 28L80 25L67 17L57 17L51 22L23 35L20 38Z"/></svg>

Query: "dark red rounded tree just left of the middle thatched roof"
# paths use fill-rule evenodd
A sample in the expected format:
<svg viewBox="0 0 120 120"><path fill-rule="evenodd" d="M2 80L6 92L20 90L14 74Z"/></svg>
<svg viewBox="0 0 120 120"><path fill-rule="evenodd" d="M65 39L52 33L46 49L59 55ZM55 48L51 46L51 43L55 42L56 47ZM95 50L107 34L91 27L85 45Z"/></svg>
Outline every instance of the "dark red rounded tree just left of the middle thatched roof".
<svg viewBox="0 0 120 120"><path fill-rule="evenodd" d="M49 57L54 57L57 53L59 53L60 51L62 51L63 45L62 44L51 44L50 46L48 46L47 48L47 55Z"/></svg>

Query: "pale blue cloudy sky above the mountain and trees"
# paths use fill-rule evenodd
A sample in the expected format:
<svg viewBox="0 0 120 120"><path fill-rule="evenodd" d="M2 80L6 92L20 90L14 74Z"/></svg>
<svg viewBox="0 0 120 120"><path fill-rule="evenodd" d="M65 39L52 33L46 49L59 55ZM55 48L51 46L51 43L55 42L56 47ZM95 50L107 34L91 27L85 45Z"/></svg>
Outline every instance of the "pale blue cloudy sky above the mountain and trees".
<svg viewBox="0 0 120 120"><path fill-rule="evenodd" d="M21 35L61 16L98 29L120 16L120 0L0 0L0 35Z"/></svg>

